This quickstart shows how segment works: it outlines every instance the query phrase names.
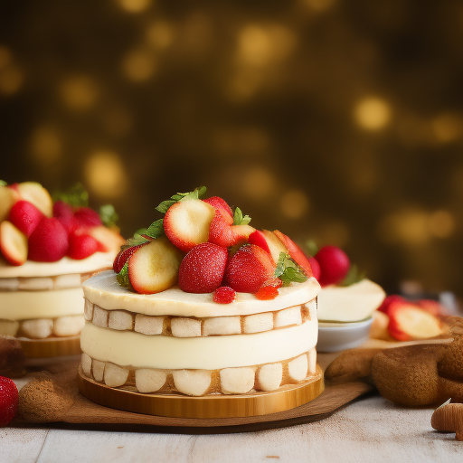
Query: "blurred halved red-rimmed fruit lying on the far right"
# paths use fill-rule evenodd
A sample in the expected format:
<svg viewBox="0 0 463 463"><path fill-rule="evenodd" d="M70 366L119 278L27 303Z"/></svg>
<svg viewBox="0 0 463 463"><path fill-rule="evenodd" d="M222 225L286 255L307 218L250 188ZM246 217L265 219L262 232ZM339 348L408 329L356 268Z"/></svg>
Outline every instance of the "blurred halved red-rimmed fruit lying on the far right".
<svg viewBox="0 0 463 463"><path fill-rule="evenodd" d="M401 301L389 306L389 334L399 341L427 339L442 334L442 324L426 310Z"/></svg>

